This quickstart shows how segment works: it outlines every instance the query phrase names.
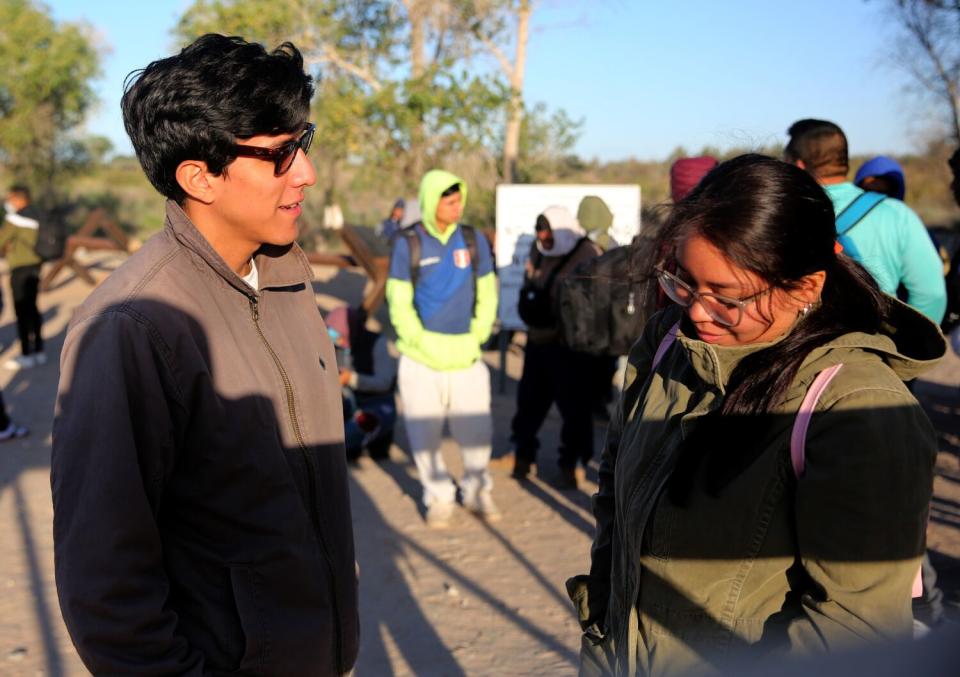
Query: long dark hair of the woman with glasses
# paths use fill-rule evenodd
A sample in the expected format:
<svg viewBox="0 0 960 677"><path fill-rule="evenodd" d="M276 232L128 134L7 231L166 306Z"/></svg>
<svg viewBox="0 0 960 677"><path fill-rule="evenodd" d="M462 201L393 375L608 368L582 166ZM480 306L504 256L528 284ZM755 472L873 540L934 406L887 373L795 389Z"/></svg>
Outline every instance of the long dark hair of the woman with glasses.
<svg viewBox="0 0 960 677"><path fill-rule="evenodd" d="M675 205L657 251L672 256L692 236L703 237L734 265L772 287L789 292L804 276L821 270L826 281L820 303L787 336L737 365L719 411L706 417L683 445L671 486L675 499L689 490L710 449L722 458L708 464L708 490L710 485L719 490L756 458L763 447L758 417L772 414L783 402L811 350L849 332L876 333L890 312L887 297L869 273L835 252L830 198L796 166L762 155L741 155L717 166ZM753 434L744 435L748 427ZM737 442L721 442L717 448L718 439Z"/></svg>

